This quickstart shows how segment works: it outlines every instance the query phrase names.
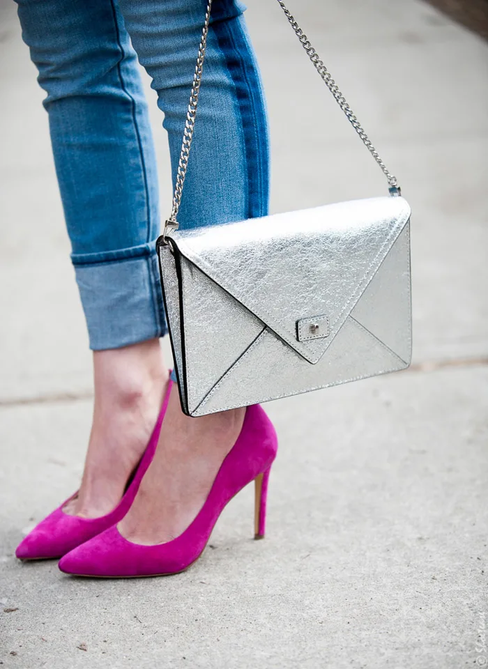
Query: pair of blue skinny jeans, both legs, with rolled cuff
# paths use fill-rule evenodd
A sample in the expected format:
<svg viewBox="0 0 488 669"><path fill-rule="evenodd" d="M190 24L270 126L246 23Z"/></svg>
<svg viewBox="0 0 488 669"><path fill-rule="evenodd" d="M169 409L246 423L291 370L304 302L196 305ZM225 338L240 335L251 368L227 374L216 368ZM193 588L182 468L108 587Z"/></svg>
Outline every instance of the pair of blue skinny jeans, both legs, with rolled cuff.
<svg viewBox="0 0 488 669"><path fill-rule="evenodd" d="M90 347L162 337L158 175L137 59L158 93L174 180L206 0L16 1L47 93ZM245 8L213 4L182 228L268 212L266 110Z"/></svg>

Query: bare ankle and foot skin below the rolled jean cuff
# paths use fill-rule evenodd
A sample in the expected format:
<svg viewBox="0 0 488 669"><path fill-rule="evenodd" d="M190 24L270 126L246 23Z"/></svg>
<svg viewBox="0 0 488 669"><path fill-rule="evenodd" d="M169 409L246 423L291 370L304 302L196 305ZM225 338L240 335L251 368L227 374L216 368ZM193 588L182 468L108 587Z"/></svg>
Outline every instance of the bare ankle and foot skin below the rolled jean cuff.
<svg viewBox="0 0 488 669"><path fill-rule="evenodd" d="M122 498L160 411L169 373L159 339L93 353L95 402L82 484L63 511L105 516Z"/></svg>

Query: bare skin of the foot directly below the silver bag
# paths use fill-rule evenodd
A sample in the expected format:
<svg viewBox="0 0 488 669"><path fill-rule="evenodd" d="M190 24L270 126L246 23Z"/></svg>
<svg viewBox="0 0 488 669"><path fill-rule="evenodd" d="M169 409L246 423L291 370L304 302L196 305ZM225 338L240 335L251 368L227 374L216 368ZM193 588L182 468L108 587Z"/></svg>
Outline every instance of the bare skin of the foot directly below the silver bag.
<svg viewBox="0 0 488 669"><path fill-rule="evenodd" d="M134 544L162 544L188 528L204 505L225 456L241 432L245 408L190 418L171 391L158 448L121 535Z"/></svg>

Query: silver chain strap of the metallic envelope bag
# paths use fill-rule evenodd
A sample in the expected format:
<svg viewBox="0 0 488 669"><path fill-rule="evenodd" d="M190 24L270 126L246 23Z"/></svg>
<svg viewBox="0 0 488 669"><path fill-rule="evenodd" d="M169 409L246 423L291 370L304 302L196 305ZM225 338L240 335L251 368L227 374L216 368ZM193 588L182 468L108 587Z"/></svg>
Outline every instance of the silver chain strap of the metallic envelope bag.
<svg viewBox="0 0 488 669"><path fill-rule="evenodd" d="M178 215L178 209L181 203L183 184L185 183L186 171L188 169L188 158L190 157L190 147L192 146L193 131L195 130L195 118L197 116L198 95L200 91L201 75L204 69L205 50L208 37L208 24L210 22L212 1L213 0L208 0L204 28L201 31L201 40L198 49L197 65L195 66L195 75L193 76L192 92L190 93L190 103L188 105L188 111L186 113L185 130L183 132L183 144L181 145L180 160L178 162L178 171L176 174L176 185L174 188L173 206L171 208L171 215L169 219L165 222L165 228L162 233L163 237L167 235L169 230L171 229L176 230L178 228L178 222L176 220L176 216ZM386 167L386 164L383 162L383 160L381 160L378 151L376 151L376 148L374 148L372 141L367 136L363 126L359 123L358 119L353 113L353 110L351 109L351 107L349 107L346 98L344 98L344 95L342 95L337 84L332 78L332 75L324 65L323 61L321 61L321 59L319 58L319 54L317 54L314 47L312 47L310 40L307 38L303 30L300 28L296 20L293 18L293 15L291 15L289 9L284 4L283 0L277 0L277 3L280 5L285 15L287 16L287 19L289 20L291 27L293 28L293 30L296 33L296 36L300 40L300 44L305 49L305 52L307 52L308 57L312 61L317 72L319 72L319 75L321 76L324 84L326 84L330 93L333 94L335 101L337 102L337 105L340 106L340 108L346 115L346 118L349 120L349 123L351 123L354 130L356 130L356 132L358 133L360 139L363 141L363 144L365 145L369 153L371 153L371 155L374 157L374 160L376 160L377 164L379 164L381 171L388 180L388 185L390 187L389 189L390 194L399 195L401 193L401 190L396 176L393 176L391 174L391 172Z"/></svg>

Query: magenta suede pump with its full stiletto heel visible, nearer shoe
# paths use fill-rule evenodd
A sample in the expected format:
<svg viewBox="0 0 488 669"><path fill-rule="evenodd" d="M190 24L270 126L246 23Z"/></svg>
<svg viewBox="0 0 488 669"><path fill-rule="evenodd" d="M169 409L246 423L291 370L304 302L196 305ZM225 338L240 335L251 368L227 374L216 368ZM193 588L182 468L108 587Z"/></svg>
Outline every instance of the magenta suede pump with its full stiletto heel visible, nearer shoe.
<svg viewBox="0 0 488 669"><path fill-rule="evenodd" d="M273 424L261 406L248 407L241 433L224 459L203 507L179 537L165 544L142 546L125 539L113 525L67 553L59 562L59 569L66 574L105 578L178 574L203 553L227 502L252 481L256 482L254 537L262 539L268 478L276 451Z"/></svg>

